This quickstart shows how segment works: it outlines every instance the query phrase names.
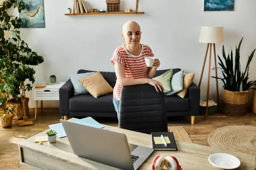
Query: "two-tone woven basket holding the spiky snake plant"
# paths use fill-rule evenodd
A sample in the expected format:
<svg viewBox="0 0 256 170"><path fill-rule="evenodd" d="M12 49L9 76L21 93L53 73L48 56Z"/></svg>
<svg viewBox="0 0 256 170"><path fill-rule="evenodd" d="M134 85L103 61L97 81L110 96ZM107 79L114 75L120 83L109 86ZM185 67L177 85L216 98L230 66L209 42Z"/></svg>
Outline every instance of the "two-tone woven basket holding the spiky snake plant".
<svg viewBox="0 0 256 170"><path fill-rule="evenodd" d="M247 113L249 91L228 91L223 89L221 113L227 116L244 116Z"/></svg>

